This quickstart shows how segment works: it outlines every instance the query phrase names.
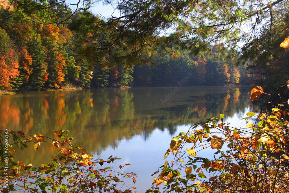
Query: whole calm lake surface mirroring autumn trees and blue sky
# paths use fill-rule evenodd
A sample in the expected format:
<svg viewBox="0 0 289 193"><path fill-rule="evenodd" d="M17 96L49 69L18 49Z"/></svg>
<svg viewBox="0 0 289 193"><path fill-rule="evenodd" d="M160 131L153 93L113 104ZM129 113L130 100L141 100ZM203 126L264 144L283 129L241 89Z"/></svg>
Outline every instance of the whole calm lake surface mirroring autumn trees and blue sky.
<svg viewBox="0 0 289 193"><path fill-rule="evenodd" d="M250 92L249 87L159 87L5 95L0 96L0 128L23 131L26 137L38 133L52 137L53 131L70 130L75 143L95 158L122 158L115 161L116 170L130 163L122 172L135 172L138 177L135 184L126 185L144 192L153 181L151 174L164 164L172 137L180 131L220 113L226 122L245 126L240 119L256 111ZM42 143L35 151L34 144L23 152L16 149L14 161L38 166L51 162L58 151L52 143ZM206 150L198 156L210 155Z"/></svg>

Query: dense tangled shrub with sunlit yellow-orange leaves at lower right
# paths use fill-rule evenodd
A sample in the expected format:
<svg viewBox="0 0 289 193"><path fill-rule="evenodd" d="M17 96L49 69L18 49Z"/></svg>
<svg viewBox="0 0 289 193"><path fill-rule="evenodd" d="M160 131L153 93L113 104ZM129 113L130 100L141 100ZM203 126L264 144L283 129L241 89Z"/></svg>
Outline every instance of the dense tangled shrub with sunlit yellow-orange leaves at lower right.
<svg viewBox="0 0 289 193"><path fill-rule="evenodd" d="M251 99L262 93L262 87L253 88ZM289 114L283 104L271 111L247 113L243 119L255 123L248 122L246 128L229 126L221 114L180 133L164 156L173 154L175 159L154 173L159 176L146 193L161 192L161 183L166 184L164 192L288 192ZM206 157L198 157L204 149Z"/></svg>

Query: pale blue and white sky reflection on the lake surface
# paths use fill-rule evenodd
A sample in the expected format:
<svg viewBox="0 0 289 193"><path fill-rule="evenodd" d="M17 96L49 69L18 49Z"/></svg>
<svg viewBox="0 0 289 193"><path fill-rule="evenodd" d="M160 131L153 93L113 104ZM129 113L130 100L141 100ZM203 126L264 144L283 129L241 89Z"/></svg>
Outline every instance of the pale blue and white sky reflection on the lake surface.
<svg viewBox="0 0 289 193"><path fill-rule="evenodd" d="M237 128L246 128L246 120L241 120L243 117L247 117L246 113L249 112L249 107L244 112L235 113L232 117L226 117L225 122L229 122L229 126L236 126ZM108 148L101 153L102 159L107 159L110 155L121 157L121 160L115 161L114 167L118 168L119 165L130 163L129 166L124 166L123 173L135 172L138 174L136 183L132 183L129 180L126 181L128 186L136 187L138 192L145 192L147 188L151 187L153 177L158 177L158 174L151 176L158 168L162 166L165 160L171 163L172 156L163 159L166 150L169 148L172 137L177 136L180 132L186 133L190 128L189 125L178 126L176 132L171 135L168 130L161 131L159 129L154 130L146 140L142 135L137 135L129 140L122 139L119 141L118 148L113 151ZM188 146L190 144L188 143ZM225 147L225 146L223 146ZM190 147L187 147L190 148ZM197 150L196 150L197 151ZM214 152L211 148L202 149L197 152L197 157L206 157L208 159L214 158ZM217 158L218 156L216 156ZM125 188L126 184L123 187ZM162 189L160 189L162 190Z"/></svg>

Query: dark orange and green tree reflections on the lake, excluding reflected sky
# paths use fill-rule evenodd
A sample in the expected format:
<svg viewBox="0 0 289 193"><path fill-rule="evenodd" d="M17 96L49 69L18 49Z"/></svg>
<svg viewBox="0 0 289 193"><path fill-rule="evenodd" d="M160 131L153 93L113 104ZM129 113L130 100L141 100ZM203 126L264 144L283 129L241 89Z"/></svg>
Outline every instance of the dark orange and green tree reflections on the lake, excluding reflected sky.
<svg viewBox="0 0 289 193"><path fill-rule="evenodd" d="M25 136L40 133L50 137L55 130L67 129L76 143L99 156L103 150L117 149L122 140L134 136L147 140L156 129L175 135L178 126L192 125L220 113L230 117L241 115L249 105L250 88L182 87L163 102L172 89L90 89L5 95L0 97L0 127L22 130ZM37 152L31 147L28 153L18 153L16 158L33 165L50 161L57 149L42 144Z"/></svg>

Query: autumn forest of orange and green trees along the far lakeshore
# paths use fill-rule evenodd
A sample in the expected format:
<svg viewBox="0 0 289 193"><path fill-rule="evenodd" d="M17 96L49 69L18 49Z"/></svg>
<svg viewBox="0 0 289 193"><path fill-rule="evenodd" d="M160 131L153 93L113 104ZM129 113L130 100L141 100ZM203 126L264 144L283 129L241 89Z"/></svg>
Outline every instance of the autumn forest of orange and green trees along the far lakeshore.
<svg viewBox="0 0 289 193"><path fill-rule="evenodd" d="M65 20L65 8L59 4L41 17L39 12L32 12L29 17L9 11L1 14L0 90L178 86L188 72L192 78L184 86L263 85L276 76L275 71L288 68L286 57L278 62L235 65L213 45L211 54L197 55L192 55L188 48L175 46L164 51L156 45L149 64L111 61L98 65L97 60L89 60L84 54L84 35L77 31L78 23L87 15L97 16L77 10L71 19ZM51 14L65 21L43 24L49 23Z"/></svg>

